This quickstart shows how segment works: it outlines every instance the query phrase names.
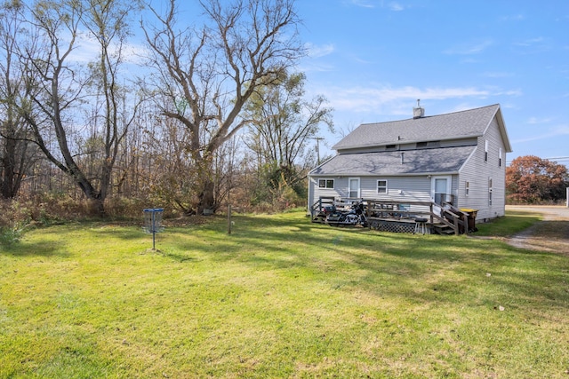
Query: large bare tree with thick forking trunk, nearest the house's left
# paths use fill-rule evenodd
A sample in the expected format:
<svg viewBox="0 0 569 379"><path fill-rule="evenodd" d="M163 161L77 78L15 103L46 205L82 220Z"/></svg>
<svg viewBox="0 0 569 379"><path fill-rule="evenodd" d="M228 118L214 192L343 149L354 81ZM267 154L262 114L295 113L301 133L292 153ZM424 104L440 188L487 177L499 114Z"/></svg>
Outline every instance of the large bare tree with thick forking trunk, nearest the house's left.
<svg viewBox="0 0 569 379"><path fill-rule="evenodd" d="M248 120L244 104L260 86L273 83L304 53L297 39L293 0L203 0L204 25L177 20L176 0L157 23L143 28L156 70L152 88L164 116L190 132L188 150L200 180L196 209L216 209L214 153Z"/></svg>

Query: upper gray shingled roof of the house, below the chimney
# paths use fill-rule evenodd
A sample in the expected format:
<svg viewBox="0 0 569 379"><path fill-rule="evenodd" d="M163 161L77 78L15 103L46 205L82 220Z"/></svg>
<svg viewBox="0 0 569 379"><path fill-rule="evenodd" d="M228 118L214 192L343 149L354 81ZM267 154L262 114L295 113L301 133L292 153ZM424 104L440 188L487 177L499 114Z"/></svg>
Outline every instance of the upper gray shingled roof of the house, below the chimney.
<svg viewBox="0 0 569 379"><path fill-rule="evenodd" d="M506 152L509 153L512 150L499 104L401 121L364 123L342 138L333 146L333 149L348 150L370 146L480 137L484 135L494 115L500 127Z"/></svg>

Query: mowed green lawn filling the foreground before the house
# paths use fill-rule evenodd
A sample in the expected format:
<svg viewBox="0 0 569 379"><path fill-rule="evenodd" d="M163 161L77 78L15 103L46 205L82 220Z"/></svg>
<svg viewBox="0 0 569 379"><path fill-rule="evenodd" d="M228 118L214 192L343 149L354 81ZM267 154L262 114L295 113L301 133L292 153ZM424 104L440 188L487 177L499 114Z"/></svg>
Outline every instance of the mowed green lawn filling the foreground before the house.
<svg viewBox="0 0 569 379"><path fill-rule="evenodd" d="M302 211L234 221L167 228L160 251L104 224L1 247L0 377L568 377L567 257Z"/></svg>

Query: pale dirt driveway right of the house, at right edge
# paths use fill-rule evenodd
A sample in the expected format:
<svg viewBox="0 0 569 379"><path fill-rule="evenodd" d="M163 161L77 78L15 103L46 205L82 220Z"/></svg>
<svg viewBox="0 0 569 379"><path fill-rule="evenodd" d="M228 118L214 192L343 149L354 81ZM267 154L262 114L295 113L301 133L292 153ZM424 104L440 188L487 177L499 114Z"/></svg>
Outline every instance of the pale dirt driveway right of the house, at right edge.
<svg viewBox="0 0 569 379"><path fill-rule="evenodd" d="M543 220L509 238L520 249L551 251L569 257L569 208L563 206L506 206L507 210L540 213Z"/></svg>

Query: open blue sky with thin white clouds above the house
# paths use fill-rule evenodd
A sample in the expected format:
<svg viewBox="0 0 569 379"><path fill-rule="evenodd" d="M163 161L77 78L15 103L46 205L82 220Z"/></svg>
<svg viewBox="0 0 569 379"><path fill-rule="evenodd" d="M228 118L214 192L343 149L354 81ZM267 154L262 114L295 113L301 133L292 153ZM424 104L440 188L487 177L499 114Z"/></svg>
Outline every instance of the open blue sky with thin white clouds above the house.
<svg viewBox="0 0 569 379"><path fill-rule="evenodd" d="M309 95L333 135L363 122L500 104L517 156L569 163L568 0L298 0ZM321 145L321 151L333 154Z"/></svg>

